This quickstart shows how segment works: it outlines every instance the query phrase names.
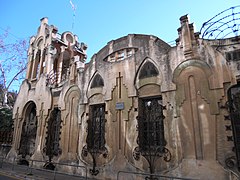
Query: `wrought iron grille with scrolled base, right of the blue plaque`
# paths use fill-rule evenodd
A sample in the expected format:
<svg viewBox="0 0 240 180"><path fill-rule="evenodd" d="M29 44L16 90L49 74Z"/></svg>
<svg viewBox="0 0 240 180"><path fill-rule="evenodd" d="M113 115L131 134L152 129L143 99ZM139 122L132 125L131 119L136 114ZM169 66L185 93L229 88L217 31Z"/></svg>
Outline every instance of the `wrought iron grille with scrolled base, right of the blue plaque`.
<svg viewBox="0 0 240 180"><path fill-rule="evenodd" d="M150 174L155 172L155 162L159 157L165 161L171 160L171 153L165 147L164 115L161 97L139 99L138 121L138 147L134 149L133 156L139 160L142 155L149 163ZM154 176L146 179L155 179Z"/></svg>

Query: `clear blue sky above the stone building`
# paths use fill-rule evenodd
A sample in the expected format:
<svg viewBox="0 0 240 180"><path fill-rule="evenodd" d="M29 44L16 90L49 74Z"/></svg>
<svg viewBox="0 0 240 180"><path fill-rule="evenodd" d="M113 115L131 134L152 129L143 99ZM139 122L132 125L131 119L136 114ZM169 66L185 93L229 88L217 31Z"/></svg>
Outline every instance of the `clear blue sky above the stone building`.
<svg viewBox="0 0 240 180"><path fill-rule="evenodd" d="M181 16L188 14L198 32L204 22L237 5L239 0L0 0L0 34L9 28L12 40L29 38L48 17L59 33L72 31L88 45L88 62L111 40L148 34L175 41Z"/></svg>

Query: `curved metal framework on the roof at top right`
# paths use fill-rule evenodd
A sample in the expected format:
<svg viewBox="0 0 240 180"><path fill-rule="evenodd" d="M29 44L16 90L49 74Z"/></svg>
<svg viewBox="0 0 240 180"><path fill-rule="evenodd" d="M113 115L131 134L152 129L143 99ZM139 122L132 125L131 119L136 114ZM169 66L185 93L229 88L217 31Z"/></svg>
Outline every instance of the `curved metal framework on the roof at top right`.
<svg viewBox="0 0 240 180"><path fill-rule="evenodd" d="M207 22L201 27L203 39L224 39L240 35L240 5L230 7Z"/></svg>

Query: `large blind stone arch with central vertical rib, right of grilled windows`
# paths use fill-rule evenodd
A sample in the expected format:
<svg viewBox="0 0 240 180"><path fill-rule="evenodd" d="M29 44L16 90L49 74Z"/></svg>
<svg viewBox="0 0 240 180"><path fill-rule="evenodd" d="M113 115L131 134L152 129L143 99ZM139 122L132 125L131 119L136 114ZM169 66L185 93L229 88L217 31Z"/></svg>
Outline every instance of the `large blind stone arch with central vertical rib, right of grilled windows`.
<svg viewBox="0 0 240 180"><path fill-rule="evenodd" d="M215 116L218 104L210 89L210 66L201 60L181 63L173 73L176 84L176 111L179 117L184 158L214 159L216 156Z"/></svg>

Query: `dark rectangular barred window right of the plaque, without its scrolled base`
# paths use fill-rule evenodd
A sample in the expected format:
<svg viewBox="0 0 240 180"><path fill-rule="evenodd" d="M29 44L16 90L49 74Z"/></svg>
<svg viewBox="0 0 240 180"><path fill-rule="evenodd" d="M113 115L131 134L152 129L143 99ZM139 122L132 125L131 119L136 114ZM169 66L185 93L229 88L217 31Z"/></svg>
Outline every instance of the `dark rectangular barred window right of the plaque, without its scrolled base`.
<svg viewBox="0 0 240 180"><path fill-rule="evenodd" d="M138 144L140 152L163 152L164 138L162 98L139 99Z"/></svg>

